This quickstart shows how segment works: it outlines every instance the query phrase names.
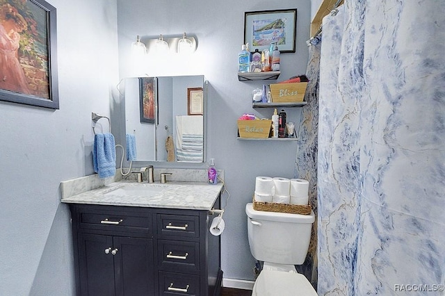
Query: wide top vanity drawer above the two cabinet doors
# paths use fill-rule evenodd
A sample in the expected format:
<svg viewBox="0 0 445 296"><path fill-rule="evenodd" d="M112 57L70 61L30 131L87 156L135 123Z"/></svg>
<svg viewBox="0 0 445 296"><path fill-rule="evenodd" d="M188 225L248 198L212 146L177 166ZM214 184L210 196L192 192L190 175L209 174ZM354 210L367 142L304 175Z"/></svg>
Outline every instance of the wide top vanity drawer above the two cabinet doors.
<svg viewBox="0 0 445 296"><path fill-rule="evenodd" d="M149 213L83 209L79 215L81 229L152 233L152 216Z"/></svg>

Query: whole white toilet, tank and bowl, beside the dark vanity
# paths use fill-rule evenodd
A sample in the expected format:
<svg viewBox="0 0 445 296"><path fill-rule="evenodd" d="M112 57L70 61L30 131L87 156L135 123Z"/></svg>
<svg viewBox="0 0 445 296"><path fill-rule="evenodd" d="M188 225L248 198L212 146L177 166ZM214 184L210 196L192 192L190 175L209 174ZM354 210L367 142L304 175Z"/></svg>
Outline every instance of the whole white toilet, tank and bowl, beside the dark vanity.
<svg viewBox="0 0 445 296"><path fill-rule="evenodd" d="M252 296L316 296L311 283L294 265L305 262L314 212L309 215L255 211L246 204L250 252L263 261Z"/></svg>

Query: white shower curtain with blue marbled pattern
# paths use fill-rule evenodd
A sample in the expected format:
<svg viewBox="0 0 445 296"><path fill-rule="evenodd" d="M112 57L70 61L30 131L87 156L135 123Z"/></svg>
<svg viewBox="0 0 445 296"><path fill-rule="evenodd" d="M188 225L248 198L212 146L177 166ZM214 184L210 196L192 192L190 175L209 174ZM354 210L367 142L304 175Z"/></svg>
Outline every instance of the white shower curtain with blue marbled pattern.
<svg viewBox="0 0 445 296"><path fill-rule="evenodd" d="M435 0L323 19L318 295L444 295L444 29Z"/></svg>

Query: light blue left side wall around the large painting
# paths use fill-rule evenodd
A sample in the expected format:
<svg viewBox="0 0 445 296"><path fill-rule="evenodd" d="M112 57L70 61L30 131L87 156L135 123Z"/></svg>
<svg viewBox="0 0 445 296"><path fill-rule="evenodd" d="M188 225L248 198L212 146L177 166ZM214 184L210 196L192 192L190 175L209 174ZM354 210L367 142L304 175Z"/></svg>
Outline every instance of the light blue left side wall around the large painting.
<svg viewBox="0 0 445 296"><path fill-rule="evenodd" d="M0 101L0 295L74 295L59 183L92 174L91 112L110 114L118 84L115 1L49 2L60 110Z"/></svg>

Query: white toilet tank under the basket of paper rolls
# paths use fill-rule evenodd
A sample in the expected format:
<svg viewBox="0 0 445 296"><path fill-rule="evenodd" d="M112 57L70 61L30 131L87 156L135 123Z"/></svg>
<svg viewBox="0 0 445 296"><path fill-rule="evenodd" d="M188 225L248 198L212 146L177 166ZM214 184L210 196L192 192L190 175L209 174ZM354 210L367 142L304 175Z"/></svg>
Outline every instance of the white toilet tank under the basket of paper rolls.
<svg viewBox="0 0 445 296"><path fill-rule="evenodd" d="M245 206L245 213L254 258L277 264L305 262L315 221L313 211L309 215L255 211L250 203Z"/></svg>

